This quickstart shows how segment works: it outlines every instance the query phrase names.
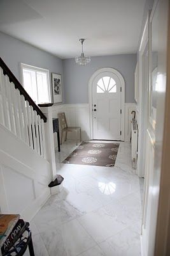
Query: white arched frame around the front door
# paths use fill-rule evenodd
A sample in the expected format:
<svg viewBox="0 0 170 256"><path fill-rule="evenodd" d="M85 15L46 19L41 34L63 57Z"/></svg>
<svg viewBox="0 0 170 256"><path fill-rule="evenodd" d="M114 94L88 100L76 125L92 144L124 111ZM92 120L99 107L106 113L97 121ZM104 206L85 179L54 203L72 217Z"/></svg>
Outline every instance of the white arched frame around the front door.
<svg viewBox="0 0 170 256"><path fill-rule="evenodd" d="M125 81L124 77L116 70L115 68L100 68L89 79L89 116L90 116L90 140L94 139L94 132L93 132L93 116L92 116L92 86L94 83L94 79L96 76L98 76L102 72L111 72L115 74L118 79L120 80L120 86L122 87L122 93L121 93L121 109L122 109L122 115L120 119L120 131L122 131L122 134L120 136L120 140L124 141L125 138Z"/></svg>

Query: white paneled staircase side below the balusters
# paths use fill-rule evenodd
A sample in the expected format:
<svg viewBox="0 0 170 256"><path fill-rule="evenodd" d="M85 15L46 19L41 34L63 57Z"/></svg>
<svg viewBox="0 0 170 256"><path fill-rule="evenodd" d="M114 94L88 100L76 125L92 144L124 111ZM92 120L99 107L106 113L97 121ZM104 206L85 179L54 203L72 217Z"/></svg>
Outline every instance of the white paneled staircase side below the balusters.
<svg viewBox="0 0 170 256"><path fill-rule="evenodd" d="M0 212L30 221L50 196L50 163L0 125Z"/></svg>

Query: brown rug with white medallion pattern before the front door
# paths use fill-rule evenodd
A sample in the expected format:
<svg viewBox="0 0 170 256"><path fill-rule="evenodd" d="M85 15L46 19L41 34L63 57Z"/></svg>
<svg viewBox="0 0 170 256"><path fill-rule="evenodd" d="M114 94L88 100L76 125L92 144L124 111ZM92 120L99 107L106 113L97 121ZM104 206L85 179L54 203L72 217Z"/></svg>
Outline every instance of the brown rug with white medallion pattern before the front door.
<svg viewBox="0 0 170 256"><path fill-rule="evenodd" d="M111 167L115 165L119 143L83 141L62 163Z"/></svg>

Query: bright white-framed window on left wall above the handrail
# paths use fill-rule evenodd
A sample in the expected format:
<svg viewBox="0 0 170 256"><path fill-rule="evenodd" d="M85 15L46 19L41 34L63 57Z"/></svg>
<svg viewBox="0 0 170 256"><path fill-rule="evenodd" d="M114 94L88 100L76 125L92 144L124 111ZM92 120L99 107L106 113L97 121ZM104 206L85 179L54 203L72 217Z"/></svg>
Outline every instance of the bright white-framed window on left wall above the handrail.
<svg viewBox="0 0 170 256"><path fill-rule="evenodd" d="M22 83L26 92L36 104L50 102L49 71L43 68L21 64Z"/></svg>

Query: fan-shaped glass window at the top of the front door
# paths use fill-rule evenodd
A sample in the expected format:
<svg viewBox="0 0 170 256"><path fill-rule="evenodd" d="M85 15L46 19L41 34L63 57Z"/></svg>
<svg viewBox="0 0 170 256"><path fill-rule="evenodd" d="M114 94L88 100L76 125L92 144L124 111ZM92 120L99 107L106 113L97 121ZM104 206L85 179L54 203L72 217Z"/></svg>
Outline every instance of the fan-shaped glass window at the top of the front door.
<svg viewBox="0 0 170 256"><path fill-rule="evenodd" d="M115 93L117 92L117 84L110 76L104 76L97 82L97 93Z"/></svg>

